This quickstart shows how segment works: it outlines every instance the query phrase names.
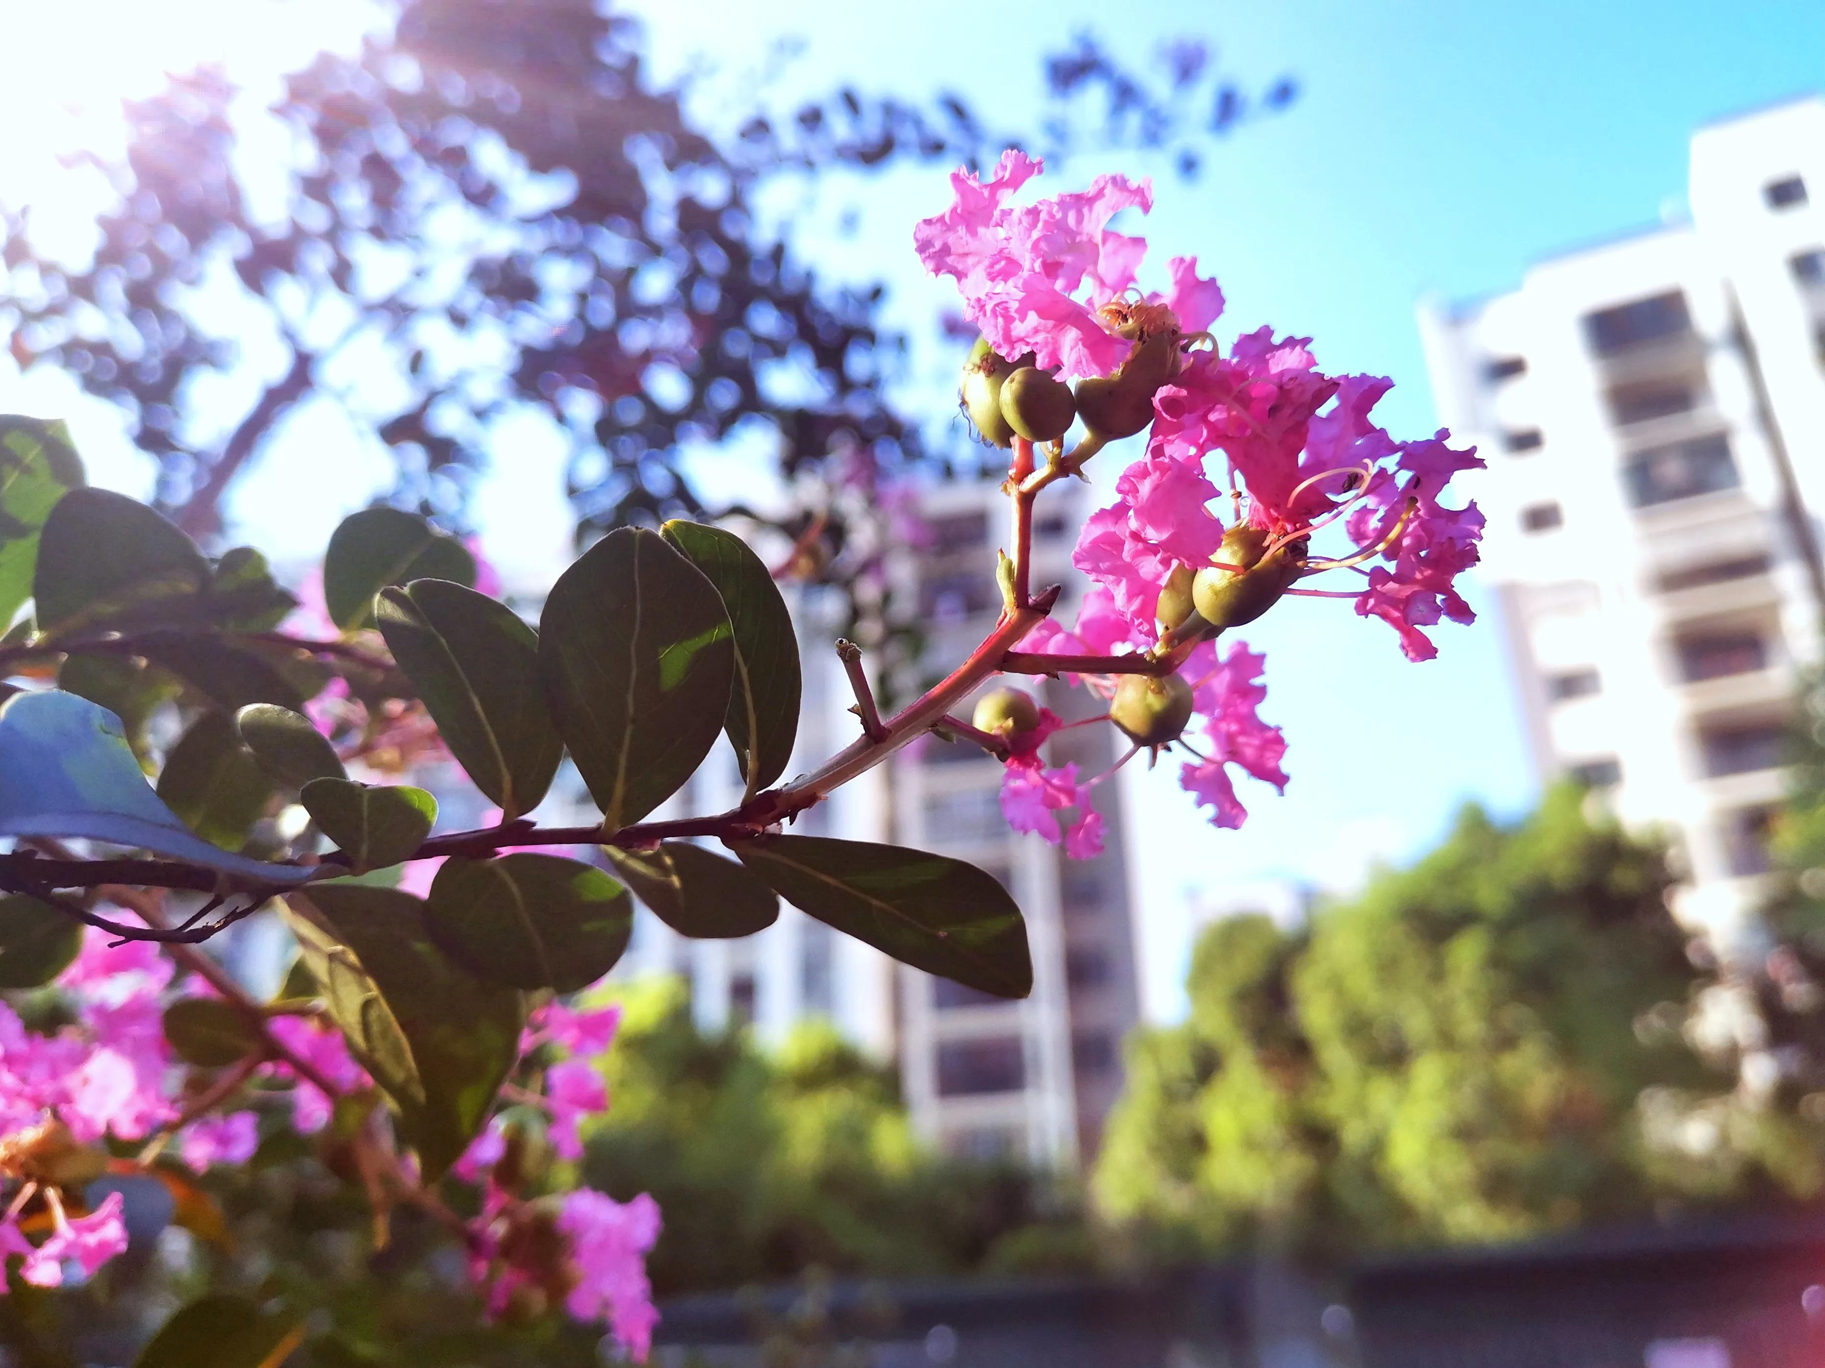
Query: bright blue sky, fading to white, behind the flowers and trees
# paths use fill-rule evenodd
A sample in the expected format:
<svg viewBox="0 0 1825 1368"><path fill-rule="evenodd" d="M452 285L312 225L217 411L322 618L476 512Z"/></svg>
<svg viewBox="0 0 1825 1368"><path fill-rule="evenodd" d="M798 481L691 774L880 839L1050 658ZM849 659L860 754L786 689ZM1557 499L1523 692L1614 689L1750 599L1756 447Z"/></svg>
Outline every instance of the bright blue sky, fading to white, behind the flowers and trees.
<svg viewBox="0 0 1825 1368"><path fill-rule="evenodd" d="M1144 232L1157 259L1197 254L1217 274L1230 299L1219 332L1272 323L1310 334L1327 370L1392 376L1396 390L1380 414L1396 436L1436 425L1413 321L1420 295L1502 290L1540 255L1677 212L1697 124L1825 86L1825 5L1816 0L642 0L633 9L650 26L661 73L708 58L745 82L774 40L798 36L805 47L779 78L783 95L845 80L909 97L944 86L1004 124L1031 122L1024 113L1038 95L1038 51L1084 29L1135 64L1155 60L1170 36L1195 35L1245 86L1294 75L1301 95L1292 109L1219 144L1197 184L1157 179ZM1100 170L1163 168L1086 157L1062 168L1058 184ZM942 171L920 168L821 193L787 186L774 208L798 223L819 266L885 277L891 319L929 334L951 303L949 286L920 277L909 235L911 221L942 208L945 195ZM850 235L830 228L845 208L858 210ZM954 358L927 348L923 359L909 392L942 412L945 381L934 378L954 374ZM9 389L0 376L0 403L40 412L68 403L55 385ZM93 434L97 474L142 492L144 467L119 449L110 454L104 420L93 410L78 420L78 434ZM354 507L378 476L330 472L334 438L325 430L310 443L312 471L332 474L318 487ZM557 460L555 449L516 445L484 487L502 558L562 534ZM1111 482L1115 469L1111 461L1100 478ZM296 476L277 461L254 474L235 507L250 533L288 538L299 553L321 547L347 511L330 500L301 507ZM285 522L272 525L263 507L285 507ZM1473 600L1482 607L1487 596L1473 587ZM1153 1014L1179 1005L1194 885L1217 896L1265 876L1343 886L1371 859L1422 852L1464 799L1518 812L1533 793L1493 615L1442 627L1442 655L1425 666L1409 666L1383 626L1325 600L1281 604L1248 637L1268 653L1263 711L1290 742L1287 797L1252 786L1250 823L1214 832L1164 766L1128 775Z"/></svg>

